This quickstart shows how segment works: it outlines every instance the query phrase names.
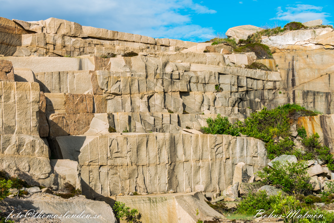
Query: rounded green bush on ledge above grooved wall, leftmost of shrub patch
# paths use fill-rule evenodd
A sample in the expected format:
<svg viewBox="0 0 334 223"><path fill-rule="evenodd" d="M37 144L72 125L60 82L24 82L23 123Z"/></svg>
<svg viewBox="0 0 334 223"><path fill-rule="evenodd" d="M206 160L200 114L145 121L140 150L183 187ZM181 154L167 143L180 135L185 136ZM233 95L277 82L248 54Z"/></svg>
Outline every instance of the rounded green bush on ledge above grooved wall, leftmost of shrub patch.
<svg viewBox="0 0 334 223"><path fill-rule="evenodd" d="M225 134L239 136L239 129L236 125L232 125L228 118L222 117L220 114L215 119L207 118L206 123L208 127L201 127L201 130L205 134Z"/></svg>

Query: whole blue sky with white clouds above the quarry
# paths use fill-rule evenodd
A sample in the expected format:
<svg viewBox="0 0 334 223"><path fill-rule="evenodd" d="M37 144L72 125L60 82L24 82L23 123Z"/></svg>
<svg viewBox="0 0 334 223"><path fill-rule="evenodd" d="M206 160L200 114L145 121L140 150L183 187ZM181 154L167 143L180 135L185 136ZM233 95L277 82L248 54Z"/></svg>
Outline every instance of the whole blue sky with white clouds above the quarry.
<svg viewBox="0 0 334 223"><path fill-rule="evenodd" d="M56 17L81 25L197 42L237 25L261 27L315 19L334 24L334 1L0 0L0 16L24 21Z"/></svg>

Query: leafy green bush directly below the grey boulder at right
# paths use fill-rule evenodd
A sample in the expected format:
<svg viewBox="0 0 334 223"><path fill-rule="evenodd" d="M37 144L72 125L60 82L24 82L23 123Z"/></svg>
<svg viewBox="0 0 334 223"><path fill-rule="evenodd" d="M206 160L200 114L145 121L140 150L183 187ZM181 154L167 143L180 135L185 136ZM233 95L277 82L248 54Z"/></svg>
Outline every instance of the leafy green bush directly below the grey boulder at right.
<svg viewBox="0 0 334 223"><path fill-rule="evenodd" d="M257 175L267 184L275 185L289 194L304 194L312 190L312 185L306 172L307 164L304 161L297 163L278 161L273 162L273 168L265 167Z"/></svg>

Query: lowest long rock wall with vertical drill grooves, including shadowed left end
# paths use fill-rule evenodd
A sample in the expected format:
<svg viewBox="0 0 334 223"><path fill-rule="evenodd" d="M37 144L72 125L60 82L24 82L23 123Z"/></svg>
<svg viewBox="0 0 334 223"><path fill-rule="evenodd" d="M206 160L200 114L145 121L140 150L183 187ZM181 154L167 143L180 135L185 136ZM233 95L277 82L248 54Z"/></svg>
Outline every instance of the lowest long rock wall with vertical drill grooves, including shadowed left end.
<svg viewBox="0 0 334 223"><path fill-rule="evenodd" d="M62 158L78 161L87 197L184 193L196 185L216 193L232 184L238 161L249 175L269 162L262 141L229 135L115 133L58 136L54 144Z"/></svg>

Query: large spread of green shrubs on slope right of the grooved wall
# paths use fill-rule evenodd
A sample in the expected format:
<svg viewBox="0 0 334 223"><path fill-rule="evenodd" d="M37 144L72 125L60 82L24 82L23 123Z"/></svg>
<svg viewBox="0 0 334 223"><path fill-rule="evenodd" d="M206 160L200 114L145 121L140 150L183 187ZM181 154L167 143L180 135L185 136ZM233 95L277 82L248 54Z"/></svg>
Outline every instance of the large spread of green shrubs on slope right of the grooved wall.
<svg viewBox="0 0 334 223"><path fill-rule="evenodd" d="M334 159L330 149L321 145L317 133L307 137L305 128L297 128L298 136L302 138L303 150L296 148L291 137L291 124L296 123L299 117L317 114L296 104L286 104L271 110L263 108L261 111L251 113L243 122L237 121L234 124L231 124L227 117L218 114L215 119L206 119L208 127L201 127L201 130L206 134L239 136L241 133L261 139L266 143L270 159L282 154L295 155L298 160L319 158L326 161L330 170L334 170Z"/></svg>

